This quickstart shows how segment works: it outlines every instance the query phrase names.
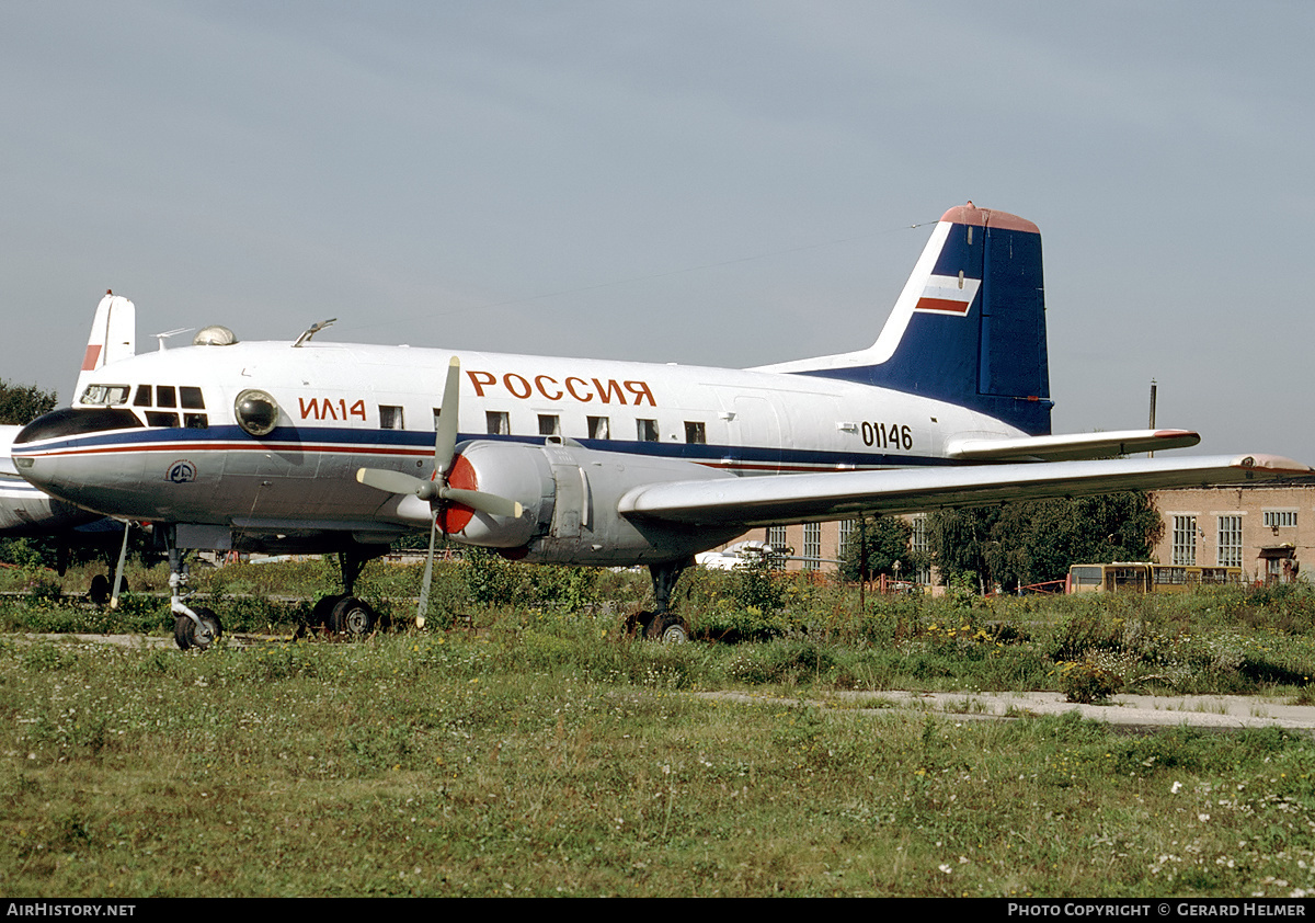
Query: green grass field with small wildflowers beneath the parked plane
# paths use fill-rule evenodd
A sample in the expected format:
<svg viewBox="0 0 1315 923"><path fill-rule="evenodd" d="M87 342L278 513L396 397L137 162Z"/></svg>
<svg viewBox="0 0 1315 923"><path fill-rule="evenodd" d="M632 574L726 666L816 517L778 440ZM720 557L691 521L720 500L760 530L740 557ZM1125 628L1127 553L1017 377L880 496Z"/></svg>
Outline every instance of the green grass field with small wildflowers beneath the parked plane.
<svg viewBox="0 0 1315 923"><path fill-rule="evenodd" d="M249 592L231 589L239 577L224 592ZM447 580L442 592L458 600L466 577ZM1078 664L1130 690L1304 702L1315 674L1304 590L878 600L857 613L842 589L798 585L777 588L781 606L767 613L743 605L744 588L702 575L682 605L696 634L722 640L664 647L618 638L604 598L629 605L642 582L551 580L575 609L467 596L448 609L467 609L469 628L441 618L448 627L354 644L196 655L9 635L0 890L1315 893L1306 735L1120 735L1072 718L980 722L693 694L1057 689ZM0 604L0 627L100 619L124 630L110 625L122 619L163 631L164 605L142 600L108 617L42 590ZM259 621L264 604L233 605ZM295 618L264 609L275 628Z"/></svg>

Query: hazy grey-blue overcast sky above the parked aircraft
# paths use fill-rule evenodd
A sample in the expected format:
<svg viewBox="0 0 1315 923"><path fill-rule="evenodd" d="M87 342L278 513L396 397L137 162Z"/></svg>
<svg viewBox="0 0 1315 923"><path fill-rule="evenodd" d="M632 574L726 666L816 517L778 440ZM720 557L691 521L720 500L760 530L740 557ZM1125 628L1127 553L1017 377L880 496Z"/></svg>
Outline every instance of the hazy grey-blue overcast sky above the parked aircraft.
<svg viewBox="0 0 1315 923"><path fill-rule="evenodd" d="M1315 463L1315 3L0 5L0 377L151 334L757 366L1036 222L1055 430ZM918 225L914 227L914 225ZM439 385L435 385L439 387Z"/></svg>

